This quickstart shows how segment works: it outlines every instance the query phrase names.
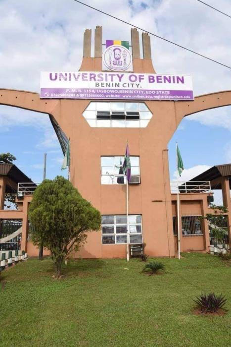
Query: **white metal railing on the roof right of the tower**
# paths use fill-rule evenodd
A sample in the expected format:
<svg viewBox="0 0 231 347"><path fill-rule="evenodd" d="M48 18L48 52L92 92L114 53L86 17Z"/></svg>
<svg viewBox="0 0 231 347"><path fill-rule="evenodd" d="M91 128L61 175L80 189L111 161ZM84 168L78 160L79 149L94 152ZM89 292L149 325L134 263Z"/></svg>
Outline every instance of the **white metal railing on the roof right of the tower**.
<svg viewBox="0 0 231 347"><path fill-rule="evenodd" d="M179 193L210 193L211 192L211 184L210 181L171 181L170 182L171 193L177 194Z"/></svg>

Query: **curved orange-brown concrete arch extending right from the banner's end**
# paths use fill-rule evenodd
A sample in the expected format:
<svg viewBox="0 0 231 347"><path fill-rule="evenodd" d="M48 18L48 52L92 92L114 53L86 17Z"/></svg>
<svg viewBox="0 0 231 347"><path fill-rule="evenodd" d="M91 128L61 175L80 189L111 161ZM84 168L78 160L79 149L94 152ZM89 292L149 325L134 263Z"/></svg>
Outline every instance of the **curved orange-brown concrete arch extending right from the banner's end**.
<svg viewBox="0 0 231 347"><path fill-rule="evenodd" d="M231 90L199 95L195 97L194 101L178 101L175 104L179 124L185 116L218 107L231 106Z"/></svg>

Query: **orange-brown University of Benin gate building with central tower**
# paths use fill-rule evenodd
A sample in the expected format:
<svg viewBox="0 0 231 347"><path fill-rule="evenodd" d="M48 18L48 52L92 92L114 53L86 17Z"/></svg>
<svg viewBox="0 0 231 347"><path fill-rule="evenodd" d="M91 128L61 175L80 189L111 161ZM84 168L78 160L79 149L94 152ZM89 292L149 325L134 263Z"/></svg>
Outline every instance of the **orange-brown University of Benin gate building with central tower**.
<svg viewBox="0 0 231 347"><path fill-rule="evenodd" d="M79 71L42 72L41 95L0 90L1 105L48 114L63 153L70 139L70 181L102 215L101 231L89 233L75 257L125 257L127 242L145 245L150 256L175 257L178 186L170 182L168 142L183 117L231 105L231 91L194 98L189 76L158 75L150 37L141 34L142 52L139 40L133 28L131 43L103 43L102 27L97 26L94 57L92 31L84 33ZM132 172L128 235L126 177L120 175L127 141ZM216 166L180 183L181 251L209 251L208 223L198 217L209 213L211 189L218 186L229 209L230 226L230 177L231 165ZM16 166L0 164L1 228L7 223L14 226L0 234L0 250L13 245L29 256L38 255L27 216L35 189L36 184ZM4 210L7 192L17 193L18 210Z"/></svg>

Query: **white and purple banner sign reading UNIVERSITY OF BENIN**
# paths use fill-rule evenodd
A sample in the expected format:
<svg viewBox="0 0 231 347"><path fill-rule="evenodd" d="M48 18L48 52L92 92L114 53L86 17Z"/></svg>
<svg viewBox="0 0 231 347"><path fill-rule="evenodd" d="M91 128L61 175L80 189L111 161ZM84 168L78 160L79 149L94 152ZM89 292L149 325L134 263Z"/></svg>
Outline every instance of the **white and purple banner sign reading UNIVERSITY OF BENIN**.
<svg viewBox="0 0 231 347"><path fill-rule="evenodd" d="M129 72L41 72L41 98L193 100L189 75Z"/></svg>

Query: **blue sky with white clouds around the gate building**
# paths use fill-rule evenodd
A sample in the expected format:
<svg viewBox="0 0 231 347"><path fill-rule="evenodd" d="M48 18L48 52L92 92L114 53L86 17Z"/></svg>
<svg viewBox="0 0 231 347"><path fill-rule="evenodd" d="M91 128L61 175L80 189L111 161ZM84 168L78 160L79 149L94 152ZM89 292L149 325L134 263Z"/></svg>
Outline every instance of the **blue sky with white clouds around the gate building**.
<svg viewBox="0 0 231 347"><path fill-rule="evenodd" d="M83 2L231 65L230 18L197 0ZM206 2L231 14L230 0ZM93 31L102 25L103 41L131 44L131 27L74 0L34 0L33 5L29 0L0 0L0 23L0 88L39 92L40 71L78 70L86 28ZM153 36L151 47L155 70L192 75L195 96L231 89L231 69ZM213 165L231 162L230 135L231 107L185 117L168 147L171 179L176 179L176 141L186 180ZM15 164L36 182L43 178L45 152L47 178L66 176L60 170L63 155L47 115L0 105L0 152L14 154Z"/></svg>

